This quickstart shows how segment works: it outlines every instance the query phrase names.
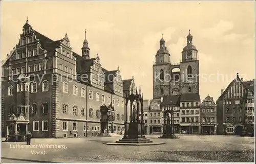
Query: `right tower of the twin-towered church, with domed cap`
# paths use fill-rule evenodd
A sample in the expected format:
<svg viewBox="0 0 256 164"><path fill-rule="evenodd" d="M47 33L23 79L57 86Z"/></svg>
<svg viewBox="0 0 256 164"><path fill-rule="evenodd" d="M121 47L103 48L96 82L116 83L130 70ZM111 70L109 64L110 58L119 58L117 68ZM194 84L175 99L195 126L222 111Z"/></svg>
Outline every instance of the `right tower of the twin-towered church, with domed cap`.
<svg viewBox="0 0 256 164"><path fill-rule="evenodd" d="M193 45L193 36L187 35L187 45L182 51L180 63L182 93L199 93L199 60L196 46Z"/></svg>

